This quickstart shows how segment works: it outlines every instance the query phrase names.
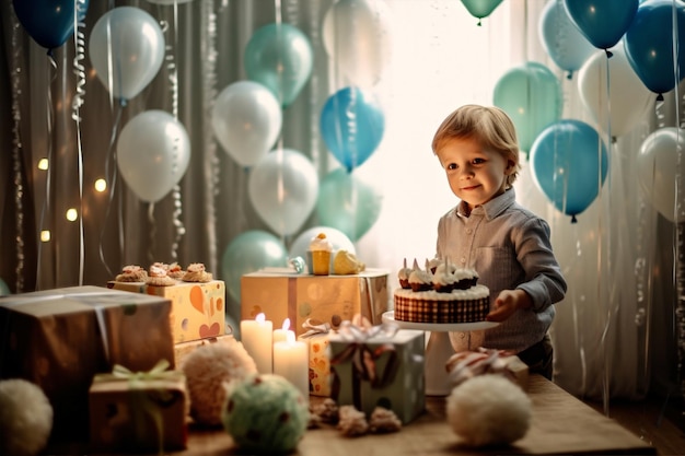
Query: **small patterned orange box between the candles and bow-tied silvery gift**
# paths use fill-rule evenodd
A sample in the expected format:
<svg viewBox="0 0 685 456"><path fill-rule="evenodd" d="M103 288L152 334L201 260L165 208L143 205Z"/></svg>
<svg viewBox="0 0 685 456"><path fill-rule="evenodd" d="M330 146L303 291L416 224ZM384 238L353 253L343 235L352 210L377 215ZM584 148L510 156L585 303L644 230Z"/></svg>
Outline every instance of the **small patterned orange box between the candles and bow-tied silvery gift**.
<svg viewBox="0 0 685 456"><path fill-rule="evenodd" d="M305 332L298 340L309 346L310 395L330 396L330 360L328 359L328 332L330 325L307 320Z"/></svg>

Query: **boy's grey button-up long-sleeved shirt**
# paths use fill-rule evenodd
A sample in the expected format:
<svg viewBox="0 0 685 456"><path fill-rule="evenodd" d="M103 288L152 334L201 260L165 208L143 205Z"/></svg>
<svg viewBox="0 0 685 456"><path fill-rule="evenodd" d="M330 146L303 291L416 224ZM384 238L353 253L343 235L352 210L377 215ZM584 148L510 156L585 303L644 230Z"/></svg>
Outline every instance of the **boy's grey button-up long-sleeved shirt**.
<svg viewBox="0 0 685 456"><path fill-rule="evenodd" d="M521 289L532 297L530 309L519 309L487 329L483 341L487 348L525 350L543 339L555 316L553 304L564 299L567 289L552 252L549 225L515 201L513 188L469 215L464 204L440 219L437 256L475 269L478 282L490 289L490 306L502 290ZM453 341L455 337L451 335Z"/></svg>

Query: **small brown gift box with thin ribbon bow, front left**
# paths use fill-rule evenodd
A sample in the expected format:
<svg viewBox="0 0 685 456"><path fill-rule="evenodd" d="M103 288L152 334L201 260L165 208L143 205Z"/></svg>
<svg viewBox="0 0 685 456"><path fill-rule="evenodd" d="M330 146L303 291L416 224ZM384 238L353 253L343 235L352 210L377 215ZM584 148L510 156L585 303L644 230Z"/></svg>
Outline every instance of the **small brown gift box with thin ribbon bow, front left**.
<svg viewBox="0 0 685 456"><path fill-rule="evenodd" d="M158 454L184 449L188 406L181 371L97 374L89 391L93 449Z"/></svg>

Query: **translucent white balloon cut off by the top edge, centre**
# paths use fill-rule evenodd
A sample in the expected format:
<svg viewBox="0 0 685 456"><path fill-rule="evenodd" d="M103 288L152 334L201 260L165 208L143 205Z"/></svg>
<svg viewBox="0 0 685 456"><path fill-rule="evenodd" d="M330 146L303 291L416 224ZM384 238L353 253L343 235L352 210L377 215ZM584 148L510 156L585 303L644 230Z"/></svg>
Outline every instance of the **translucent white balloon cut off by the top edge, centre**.
<svg viewBox="0 0 685 456"><path fill-rule="evenodd" d="M322 25L335 67L360 87L376 84L392 56L391 11L382 0L339 0Z"/></svg>

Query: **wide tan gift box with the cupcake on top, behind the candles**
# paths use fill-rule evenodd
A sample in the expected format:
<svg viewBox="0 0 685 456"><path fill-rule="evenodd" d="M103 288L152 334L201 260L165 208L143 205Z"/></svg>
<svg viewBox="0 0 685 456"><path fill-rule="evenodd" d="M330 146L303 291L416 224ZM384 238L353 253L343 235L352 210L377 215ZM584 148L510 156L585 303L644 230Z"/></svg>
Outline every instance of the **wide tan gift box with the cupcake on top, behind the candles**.
<svg viewBox="0 0 685 456"><path fill-rule="evenodd" d="M335 328L356 314L372 324L382 323L388 309L387 270L369 269L351 276L309 276L257 271L241 278L241 318L264 313L280 327L290 318L295 336L307 318L330 323Z"/></svg>

